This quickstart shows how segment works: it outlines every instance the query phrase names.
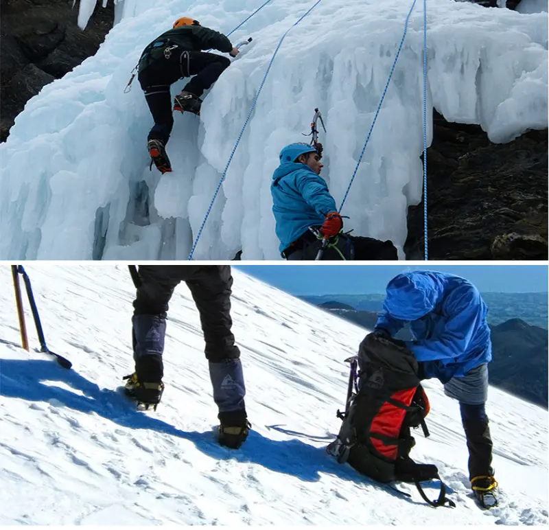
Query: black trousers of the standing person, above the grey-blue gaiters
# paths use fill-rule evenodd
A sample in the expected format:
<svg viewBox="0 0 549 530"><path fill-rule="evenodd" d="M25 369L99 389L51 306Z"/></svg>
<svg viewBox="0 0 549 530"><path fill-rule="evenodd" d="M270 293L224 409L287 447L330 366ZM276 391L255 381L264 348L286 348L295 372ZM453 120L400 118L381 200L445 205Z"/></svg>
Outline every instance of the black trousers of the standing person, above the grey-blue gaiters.
<svg viewBox="0 0 549 530"><path fill-rule="evenodd" d="M134 314L165 319L174 288L185 281L200 313L208 360L240 358L231 332L231 287L228 265L141 265L141 285L133 303Z"/></svg>

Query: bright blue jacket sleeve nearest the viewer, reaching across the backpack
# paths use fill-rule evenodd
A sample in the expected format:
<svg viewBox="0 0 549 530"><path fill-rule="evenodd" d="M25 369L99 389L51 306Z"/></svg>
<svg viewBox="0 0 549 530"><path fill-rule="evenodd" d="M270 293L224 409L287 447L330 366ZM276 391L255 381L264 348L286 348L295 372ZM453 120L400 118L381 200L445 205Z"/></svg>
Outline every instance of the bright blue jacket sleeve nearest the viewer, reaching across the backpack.
<svg viewBox="0 0 549 530"><path fill-rule="evenodd" d="M480 294L470 286L460 286L448 295L445 312L449 318L439 336L407 343L417 360L451 359L463 355L484 319Z"/></svg>

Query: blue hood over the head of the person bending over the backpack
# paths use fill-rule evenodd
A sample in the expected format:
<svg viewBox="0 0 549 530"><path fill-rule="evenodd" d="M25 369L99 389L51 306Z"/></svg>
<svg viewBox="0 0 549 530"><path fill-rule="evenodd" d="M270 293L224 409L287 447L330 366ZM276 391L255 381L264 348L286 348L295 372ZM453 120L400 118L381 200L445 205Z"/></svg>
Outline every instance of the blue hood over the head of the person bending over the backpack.
<svg viewBox="0 0 549 530"><path fill-rule="evenodd" d="M436 275L428 271L403 273L389 282L383 308L395 319L413 321L434 310L443 294L443 282Z"/></svg>

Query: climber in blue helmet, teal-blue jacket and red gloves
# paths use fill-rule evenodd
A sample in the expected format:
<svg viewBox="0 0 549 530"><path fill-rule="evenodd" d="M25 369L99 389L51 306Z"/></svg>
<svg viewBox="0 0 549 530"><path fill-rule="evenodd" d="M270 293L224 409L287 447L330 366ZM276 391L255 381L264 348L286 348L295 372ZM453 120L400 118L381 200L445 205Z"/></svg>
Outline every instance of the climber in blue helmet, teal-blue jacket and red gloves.
<svg viewBox="0 0 549 530"><path fill-rule="evenodd" d="M325 260L397 260L397 249L389 240L342 233L336 201L320 176L321 157L320 143L290 143L280 152L270 189L282 257L314 260L324 236L330 240Z"/></svg>

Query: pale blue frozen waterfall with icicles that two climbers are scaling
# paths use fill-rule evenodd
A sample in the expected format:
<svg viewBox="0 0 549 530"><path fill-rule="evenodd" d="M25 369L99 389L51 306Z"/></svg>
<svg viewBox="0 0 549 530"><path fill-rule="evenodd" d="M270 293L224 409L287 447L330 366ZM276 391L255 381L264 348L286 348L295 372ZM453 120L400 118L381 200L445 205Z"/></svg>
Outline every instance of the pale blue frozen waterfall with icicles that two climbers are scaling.
<svg viewBox="0 0 549 530"><path fill-rule="evenodd" d="M526 1L526 0L525 0ZM103 2L104 3L104 2ZM125 0L97 54L27 102L0 146L0 258L187 259L283 34L312 0L272 0L231 39L248 36L200 117L176 115L174 172L149 171L152 117L137 79L141 51L182 14L229 33L262 0ZM257 97L194 259L281 259L270 181L285 144L307 141L318 106L323 176L340 205L412 1L323 0L283 41ZM84 26L95 2L80 1ZM530 5L531 7L531 5ZM100 6L97 5L97 9ZM534 8L532 8L535 10ZM428 133L432 108L480 124L495 142L547 127L547 15L451 0L428 2ZM172 94L183 87L172 86ZM421 200L423 12L417 2L384 104L342 214L358 235L395 242ZM150 197L150 200L149 200Z"/></svg>

